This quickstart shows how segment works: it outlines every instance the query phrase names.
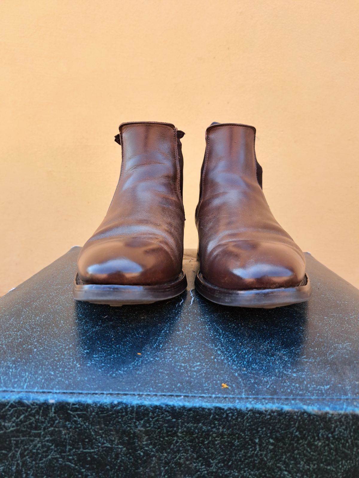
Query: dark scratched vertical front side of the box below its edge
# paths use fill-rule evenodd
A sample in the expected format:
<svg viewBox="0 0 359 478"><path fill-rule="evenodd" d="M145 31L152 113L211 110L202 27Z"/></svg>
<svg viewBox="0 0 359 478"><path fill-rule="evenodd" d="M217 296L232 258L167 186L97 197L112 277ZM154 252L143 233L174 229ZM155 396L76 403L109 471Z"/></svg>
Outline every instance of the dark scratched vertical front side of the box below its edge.
<svg viewBox="0 0 359 478"><path fill-rule="evenodd" d="M4 408L4 477L358 477L358 414L67 402Z"/></svg>

